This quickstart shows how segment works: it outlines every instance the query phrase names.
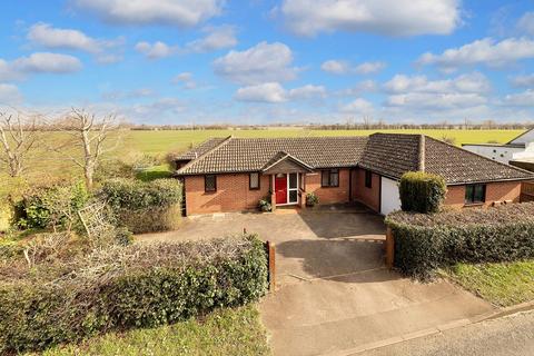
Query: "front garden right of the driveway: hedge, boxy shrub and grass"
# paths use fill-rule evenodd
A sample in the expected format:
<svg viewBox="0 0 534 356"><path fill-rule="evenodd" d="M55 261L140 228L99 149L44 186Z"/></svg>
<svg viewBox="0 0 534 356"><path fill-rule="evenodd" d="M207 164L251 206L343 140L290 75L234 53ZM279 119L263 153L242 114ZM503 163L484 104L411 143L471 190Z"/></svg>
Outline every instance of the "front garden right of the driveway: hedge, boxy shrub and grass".
<svg viewBox="0 0 534 356"><path fill-rule="evenodd" d="M439 177L406 174L404 211L387 216L394 265L431 279L438 271L498 306L534 299L534 202L483 209L443 207Z"/></svg>

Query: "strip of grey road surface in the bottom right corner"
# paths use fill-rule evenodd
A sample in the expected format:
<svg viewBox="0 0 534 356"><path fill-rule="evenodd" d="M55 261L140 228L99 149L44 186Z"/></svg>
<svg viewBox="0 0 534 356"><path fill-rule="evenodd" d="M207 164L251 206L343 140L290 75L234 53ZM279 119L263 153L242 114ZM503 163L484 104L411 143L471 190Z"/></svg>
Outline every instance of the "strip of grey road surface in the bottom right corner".
<svg viewBox="0 0 534 356"><path fill-rule="evenodd" d="M352 354L358 356L532 356L534 312Z"/></svg>

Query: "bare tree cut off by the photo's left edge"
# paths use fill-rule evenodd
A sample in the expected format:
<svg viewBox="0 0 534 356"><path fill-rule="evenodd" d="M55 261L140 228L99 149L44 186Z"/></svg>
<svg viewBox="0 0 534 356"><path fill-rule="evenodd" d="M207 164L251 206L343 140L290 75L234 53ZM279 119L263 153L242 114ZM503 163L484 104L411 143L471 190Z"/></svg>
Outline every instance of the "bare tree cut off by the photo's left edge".
<svg viewBox="0 0 534 356"><path fill-rule="evenodd" d="M26 158L37 140L38 115L27 115L13 109L0 112L0 161L8 166L11 177L20 177L27 169Z"/></svg>

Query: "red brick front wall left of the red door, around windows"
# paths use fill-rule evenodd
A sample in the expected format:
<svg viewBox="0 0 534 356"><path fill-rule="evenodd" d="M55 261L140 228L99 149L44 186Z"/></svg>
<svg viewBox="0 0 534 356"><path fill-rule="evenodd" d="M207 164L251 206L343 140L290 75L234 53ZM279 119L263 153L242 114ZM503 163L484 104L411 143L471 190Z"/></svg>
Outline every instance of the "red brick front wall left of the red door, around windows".
<svg viewBox="0 0 534 356"><path fill-rule="evenodd" d="M214 192L204 191L204 176L186 177L187 215L256 209L258 200L269 192L270 176L260 177L260 189L250 190L248 174L217 175Z"/></svg>

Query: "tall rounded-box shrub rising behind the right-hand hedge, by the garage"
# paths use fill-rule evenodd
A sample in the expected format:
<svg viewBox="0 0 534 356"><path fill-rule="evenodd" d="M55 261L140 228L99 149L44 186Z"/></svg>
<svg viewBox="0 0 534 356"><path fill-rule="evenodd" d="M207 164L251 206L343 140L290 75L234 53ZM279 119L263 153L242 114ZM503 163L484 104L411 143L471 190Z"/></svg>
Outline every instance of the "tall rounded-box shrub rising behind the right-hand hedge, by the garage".
<svg viewBox="0 0 534 356"><path fill-rule="evenodd" d="M445 200L447 186L437 175L408 171L400 178L398 191L404 211L436 212Z"/></svg>

